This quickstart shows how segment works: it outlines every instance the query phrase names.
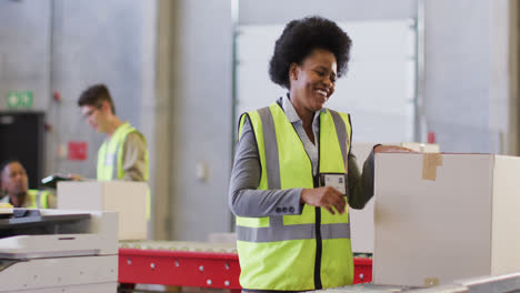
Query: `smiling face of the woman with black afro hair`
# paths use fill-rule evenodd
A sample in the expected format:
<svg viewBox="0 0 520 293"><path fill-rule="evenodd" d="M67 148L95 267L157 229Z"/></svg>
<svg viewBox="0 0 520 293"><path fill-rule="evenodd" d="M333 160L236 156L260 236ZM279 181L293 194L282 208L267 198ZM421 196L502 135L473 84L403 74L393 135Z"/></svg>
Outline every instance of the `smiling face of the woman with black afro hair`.
<svg viewBox="0 0 520 293"><path fill-rule="evenodd" d="M301 64L289 68L291 102L301 115L323 108L334 92L337 77L336 57L323 49L314 49Z"/></svg>

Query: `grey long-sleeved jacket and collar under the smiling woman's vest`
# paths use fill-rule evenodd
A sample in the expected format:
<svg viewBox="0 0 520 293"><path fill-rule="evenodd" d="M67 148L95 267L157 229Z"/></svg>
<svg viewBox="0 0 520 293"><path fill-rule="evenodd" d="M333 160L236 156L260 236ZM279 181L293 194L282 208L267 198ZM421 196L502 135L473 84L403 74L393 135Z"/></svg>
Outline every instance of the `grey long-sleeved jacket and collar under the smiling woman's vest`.
<svg viewBox="0 0 520 293"><path fill-rule="evenodd" d="M284 97L281 104L286 111L286 115L303 142L316 175L318 145L314 145L307 137L302 121L292 108L290 100ZM319 138L318 115L319 112L314 114L312 123L314 138ZM319 143L319 139L314 141L317 144ZM362 174L360 174L358 169L356 156L351 153L348 156L348 166L349 205L353 209L362 209L373 195L373 151L363 164ZM261 166L257 141L251 122L247 119L242 127L241 139L237 143L233 170L231 172L229 189L231 211L239 216L301 214L303 205L300 204L300 196L303 189L258 190L260 172Z"/></svg>

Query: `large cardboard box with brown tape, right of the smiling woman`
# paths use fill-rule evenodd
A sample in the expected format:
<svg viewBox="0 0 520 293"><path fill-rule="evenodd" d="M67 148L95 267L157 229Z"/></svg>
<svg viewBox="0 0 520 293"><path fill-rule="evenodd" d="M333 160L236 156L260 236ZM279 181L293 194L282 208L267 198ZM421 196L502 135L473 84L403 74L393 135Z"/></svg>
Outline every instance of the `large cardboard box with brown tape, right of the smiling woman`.
<svg viewBox="0 0 520 293"><path fill-rule="evenodd" d="M520 271L520 158L376 155L373 283Z"/></svg>

